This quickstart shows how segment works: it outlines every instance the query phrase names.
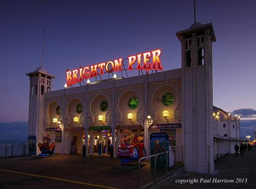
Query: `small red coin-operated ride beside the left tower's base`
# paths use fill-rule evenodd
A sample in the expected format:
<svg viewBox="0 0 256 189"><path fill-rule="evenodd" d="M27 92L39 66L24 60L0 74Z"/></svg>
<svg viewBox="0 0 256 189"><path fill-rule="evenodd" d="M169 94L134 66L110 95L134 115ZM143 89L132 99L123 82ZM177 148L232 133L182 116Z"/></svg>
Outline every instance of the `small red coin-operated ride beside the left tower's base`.
<svg viewBox="0 0 256 189"><path fill-rule="evenodd" d="M54 156L53 152L55 149L55 142L51 143L52 139L50 139L50 135L44 135L43 137L43 144L38 143L37 146L41 151L41 154L38 156Z"/></svg>

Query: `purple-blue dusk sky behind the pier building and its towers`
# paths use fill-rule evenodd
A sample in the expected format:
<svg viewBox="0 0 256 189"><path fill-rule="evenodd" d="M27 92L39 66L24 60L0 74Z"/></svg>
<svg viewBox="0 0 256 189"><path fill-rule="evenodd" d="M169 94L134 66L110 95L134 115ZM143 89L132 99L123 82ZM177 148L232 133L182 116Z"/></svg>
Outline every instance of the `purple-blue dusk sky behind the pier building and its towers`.
<svg viewBox="0 0 256 189"><path fill-rule="evenodd" d="M241 136L251 135L251 140L256 122L255 9L255 0L196 0L196 21L212 22L216 35L213 105L240 115ZM156 49L161 49L163 71L178 69L176 32L194 23L194 0L1 0L0 17L0 140L8 140L27 128L26 73L42 65L43 30L43 67L56 76L53 90L64 88L66 69ZM135 75L138 71L128 71L129 77ZM23 135L26 140L27 133Z"/></svg>

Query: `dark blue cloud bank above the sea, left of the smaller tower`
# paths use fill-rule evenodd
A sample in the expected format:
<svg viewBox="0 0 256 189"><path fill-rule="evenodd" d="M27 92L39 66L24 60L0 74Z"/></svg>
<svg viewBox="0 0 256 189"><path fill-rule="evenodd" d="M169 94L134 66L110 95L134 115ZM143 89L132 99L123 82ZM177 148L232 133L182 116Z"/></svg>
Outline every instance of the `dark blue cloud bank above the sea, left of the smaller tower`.
<svg viewBox="0 0 256 189"><path fill-rule="evenodd" d="M21 140L28 137L28 121L0 122L0 140Z"/></svg>

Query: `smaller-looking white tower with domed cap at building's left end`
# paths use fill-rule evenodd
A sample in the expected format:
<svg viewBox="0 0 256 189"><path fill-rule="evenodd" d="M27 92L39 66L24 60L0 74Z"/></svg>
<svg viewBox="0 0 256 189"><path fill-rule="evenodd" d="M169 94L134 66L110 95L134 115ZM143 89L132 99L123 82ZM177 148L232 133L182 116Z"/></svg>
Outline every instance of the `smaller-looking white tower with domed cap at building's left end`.
<svg viewBox="0 0 256 189"><path fill-rule="evenodd" d="M43 142L44 135L44 95L52 91L55 76L46 72L43 67L26 73L30 80L28 135L36 136L36 142Z"/></svg>

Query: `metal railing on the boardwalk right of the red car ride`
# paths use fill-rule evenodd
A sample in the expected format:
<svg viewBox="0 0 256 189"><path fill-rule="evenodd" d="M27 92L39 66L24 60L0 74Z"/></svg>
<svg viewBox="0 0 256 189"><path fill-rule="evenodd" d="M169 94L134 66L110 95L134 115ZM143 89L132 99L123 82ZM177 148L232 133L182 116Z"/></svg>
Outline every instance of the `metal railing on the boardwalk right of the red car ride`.
<svg viewBox="0 0 256 189"><path fill-rule="evenodd" d="M177 148L172 148L172 150L168 150L168 151L165 151L165 152L162 152L162 153L159 153L159 154L156 154L156 155L150 155L150 156L147 156L147 157L144 157L144 158L141 158L139 159L139 170L138 170L138 189L140 188L140 168L141 168L141 160L143 159L147 159L147 158L151 158L151 157L154 157L154 181L155 181L155 175L156 175L156 160L157 160L157 156L158 155L162 155L162 154L166 154L167 157L168 157L168 154L169 154L169 151L174 151L175 152L175 159L174 159L174 165L175 165L175 168L177 168L177 149L178 148L181 148L181 157L182 157L182 162L183 163L183 148L182 146L180 147L177 147ZM166 161L166 174L168 174L168 161Z"/></svg>

